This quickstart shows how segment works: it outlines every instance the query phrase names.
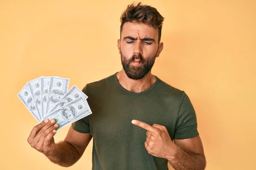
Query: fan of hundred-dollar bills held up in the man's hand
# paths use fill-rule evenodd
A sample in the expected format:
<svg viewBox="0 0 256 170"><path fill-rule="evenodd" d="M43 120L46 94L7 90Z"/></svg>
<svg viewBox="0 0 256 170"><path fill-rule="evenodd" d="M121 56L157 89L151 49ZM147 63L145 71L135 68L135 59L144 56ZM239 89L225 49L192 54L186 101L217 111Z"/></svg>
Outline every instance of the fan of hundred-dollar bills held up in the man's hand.
<svg viewBox="0 0 256 170"><path fill-rule="evenodd" d="M27 82L17 96L39 123L55 119L59 130L92 113L88 96L76 85L68 87L67 78L42 76Z"/></svg>

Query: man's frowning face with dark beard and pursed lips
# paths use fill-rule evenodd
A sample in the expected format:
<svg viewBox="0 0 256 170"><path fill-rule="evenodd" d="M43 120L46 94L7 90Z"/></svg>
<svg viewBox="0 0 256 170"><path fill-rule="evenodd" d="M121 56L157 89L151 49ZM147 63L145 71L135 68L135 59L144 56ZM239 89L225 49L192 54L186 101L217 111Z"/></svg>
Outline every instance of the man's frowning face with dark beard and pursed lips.
<svg viewBox="0 0 256 170"><path fill-rule="evenodd" d="M143 23L125 23L121 40L118 40L119 54L125 73L130 79L142 79L154 65L155 58L163 49L158 44L158 30Z"/></svg>

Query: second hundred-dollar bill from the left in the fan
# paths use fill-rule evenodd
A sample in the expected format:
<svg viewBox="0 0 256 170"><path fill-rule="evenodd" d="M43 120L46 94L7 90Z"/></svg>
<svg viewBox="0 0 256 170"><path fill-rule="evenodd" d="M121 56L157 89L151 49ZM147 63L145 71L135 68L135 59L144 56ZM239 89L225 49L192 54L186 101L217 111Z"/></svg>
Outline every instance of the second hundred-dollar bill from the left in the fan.
<svg viewBox="0 0 256 170"><path fill-rule="evenodd" d="M41 77L33 79L27 82L30 93L32 95L32 100L35 104L36 111L38 113L39 119L42 120L41 114Z"/></svg>

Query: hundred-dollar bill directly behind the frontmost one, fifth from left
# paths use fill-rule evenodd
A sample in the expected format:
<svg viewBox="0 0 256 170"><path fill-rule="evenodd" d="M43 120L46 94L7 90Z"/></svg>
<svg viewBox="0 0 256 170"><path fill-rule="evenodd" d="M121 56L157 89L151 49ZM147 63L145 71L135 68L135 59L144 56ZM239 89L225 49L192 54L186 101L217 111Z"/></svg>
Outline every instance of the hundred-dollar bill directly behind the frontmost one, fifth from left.
<svg viewBox="0 0 256 170"><path fill-rule="evenodd" d="M56 109L58 110L62 106L67 105L67 103L72 102L81 96L84 96L85 99L88 98L88 96L86 96L79 88L77 88L76 85L73 85L67 94L65 94L65 96L58 102L57 105L54 106L54 108L52 108L50 112L53 112Z"/></svg>

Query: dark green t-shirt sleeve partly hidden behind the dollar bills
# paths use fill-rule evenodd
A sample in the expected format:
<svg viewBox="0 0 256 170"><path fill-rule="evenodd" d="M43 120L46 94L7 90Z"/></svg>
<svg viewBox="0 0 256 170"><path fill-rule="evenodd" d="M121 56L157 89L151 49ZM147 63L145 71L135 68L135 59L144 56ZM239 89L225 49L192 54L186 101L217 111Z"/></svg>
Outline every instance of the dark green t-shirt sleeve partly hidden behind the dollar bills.
<svg viewBox="0 0 256 170"><path fill-rule="evenodd" d="M87 100L89 99L87 85L83 88L82 92L88 96ZM82 119L77 120L76 122L72 123L72 127L74 130L80 133L90 133L90 119L89 116L85 116Z"/></svg>

